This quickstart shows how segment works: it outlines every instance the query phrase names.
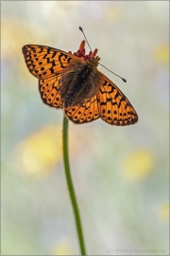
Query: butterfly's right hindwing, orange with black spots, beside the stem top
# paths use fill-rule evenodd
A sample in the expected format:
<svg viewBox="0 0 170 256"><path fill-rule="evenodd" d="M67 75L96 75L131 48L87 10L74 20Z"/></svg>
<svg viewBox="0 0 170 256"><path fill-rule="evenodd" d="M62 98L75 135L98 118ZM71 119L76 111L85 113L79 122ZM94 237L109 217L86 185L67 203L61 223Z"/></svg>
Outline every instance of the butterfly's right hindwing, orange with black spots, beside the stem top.
<svg viewBox="0 0 170 256"><path fill-rule="evenodd" d="M91 122L99 118L96 96L80 106L72 106L65 109L68 119L75 123Z"/></svg>

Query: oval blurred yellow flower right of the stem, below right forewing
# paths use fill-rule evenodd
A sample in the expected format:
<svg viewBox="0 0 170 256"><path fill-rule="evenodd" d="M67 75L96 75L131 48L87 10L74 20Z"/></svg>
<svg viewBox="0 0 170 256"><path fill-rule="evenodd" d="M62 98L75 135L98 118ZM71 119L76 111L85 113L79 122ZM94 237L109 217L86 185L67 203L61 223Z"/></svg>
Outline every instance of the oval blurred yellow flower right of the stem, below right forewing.
<svg viewBox="0 0 170 256"><path fill-rule="evenodd" d="M139 180L150 174L153 166L152 153L148 150L140 150L127 156L123 165L123 172L128 178Z"/></svg>

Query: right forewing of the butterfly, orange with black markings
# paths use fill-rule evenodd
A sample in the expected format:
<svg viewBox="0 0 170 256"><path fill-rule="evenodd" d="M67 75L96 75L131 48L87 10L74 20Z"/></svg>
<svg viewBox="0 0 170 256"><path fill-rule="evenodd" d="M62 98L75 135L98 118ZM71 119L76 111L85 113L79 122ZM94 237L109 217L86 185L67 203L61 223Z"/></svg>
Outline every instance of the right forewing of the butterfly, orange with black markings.
<svg viewBox="0 0 170 256"><path fill-rule="evenodd" d="M136 123L138 115L126 96L106 76L100 74L101 85L96 89L100 118L117 126Z"/></svg>

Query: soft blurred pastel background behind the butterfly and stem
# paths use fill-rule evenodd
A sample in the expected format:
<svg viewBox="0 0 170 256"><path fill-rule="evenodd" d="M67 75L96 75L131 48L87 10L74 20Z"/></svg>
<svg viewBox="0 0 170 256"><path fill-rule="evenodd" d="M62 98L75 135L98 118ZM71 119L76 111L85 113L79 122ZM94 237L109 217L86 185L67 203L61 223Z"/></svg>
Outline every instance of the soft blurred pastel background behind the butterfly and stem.
<svg viewBox="0 0 170 256"><path fill-rule="evenodd" d="M22 46L98 48L139 122L69 123L89 255L169 255L169 1L2 1L2 255L78 255L63 113L42 103ZM88 46L86 46L89 52Z"/></svg>

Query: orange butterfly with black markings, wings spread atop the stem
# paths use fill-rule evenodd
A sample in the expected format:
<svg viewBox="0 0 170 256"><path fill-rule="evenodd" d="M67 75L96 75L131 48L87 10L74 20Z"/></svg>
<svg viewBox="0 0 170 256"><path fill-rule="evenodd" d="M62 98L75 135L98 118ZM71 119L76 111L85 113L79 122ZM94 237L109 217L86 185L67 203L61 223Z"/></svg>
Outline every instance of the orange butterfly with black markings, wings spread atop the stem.
<svg viewBox="0 0 170 256"><path fill-rule="evenodd" d="M62 108L75 123L99 118L112 125L136 123L137 113L126 96L98 71L97 49L85 54L84 46L83 40L74 54L49 46L23 46L26 66L39 79L42 101Z"/></svg>

